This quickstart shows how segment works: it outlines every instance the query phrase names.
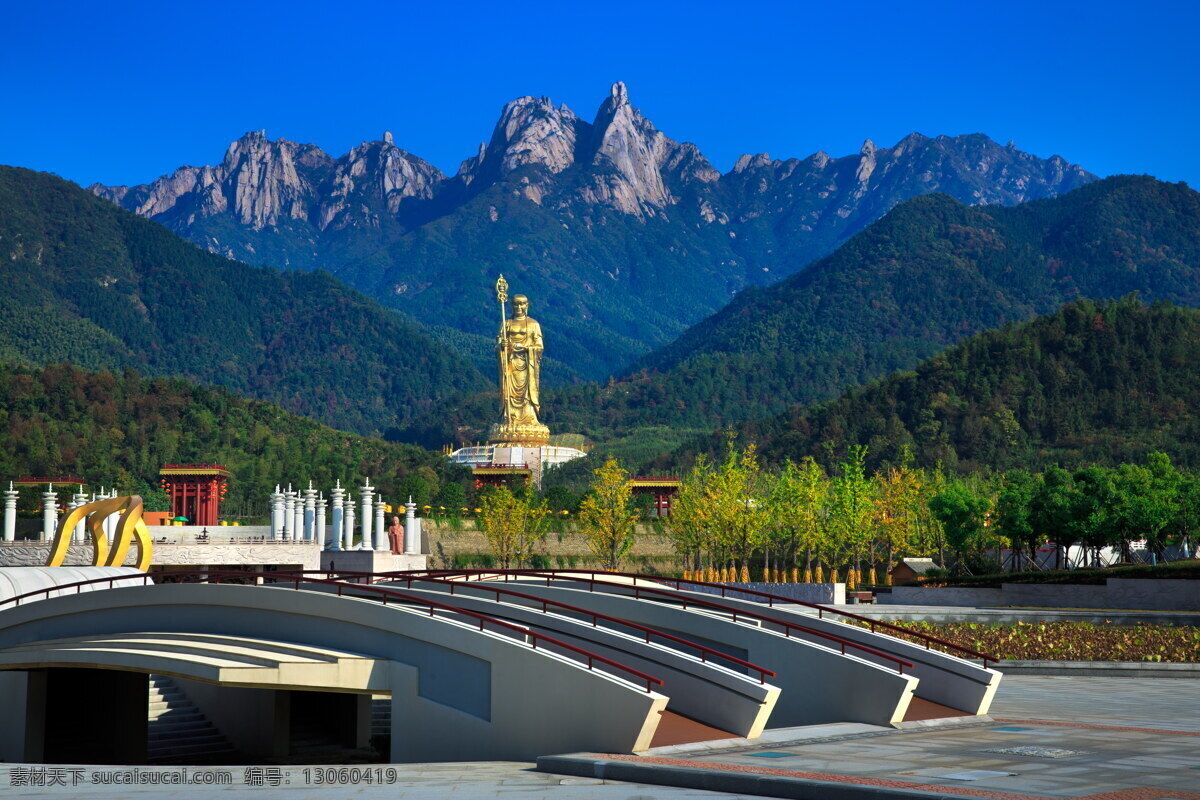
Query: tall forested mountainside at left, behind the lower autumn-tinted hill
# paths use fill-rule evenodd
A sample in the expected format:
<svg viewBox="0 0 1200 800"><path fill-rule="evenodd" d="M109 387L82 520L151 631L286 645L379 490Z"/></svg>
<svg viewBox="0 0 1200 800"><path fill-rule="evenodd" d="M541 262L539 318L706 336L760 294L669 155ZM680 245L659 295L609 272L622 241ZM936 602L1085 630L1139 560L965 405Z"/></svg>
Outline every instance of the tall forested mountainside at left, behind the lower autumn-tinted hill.
<svg viewBox="0 0 1200 800"><path fill-rule="evenodd" d="M0 167L0 359L136 367L379 433L487 381L324 272L204 252L73 184Z"/></svg>

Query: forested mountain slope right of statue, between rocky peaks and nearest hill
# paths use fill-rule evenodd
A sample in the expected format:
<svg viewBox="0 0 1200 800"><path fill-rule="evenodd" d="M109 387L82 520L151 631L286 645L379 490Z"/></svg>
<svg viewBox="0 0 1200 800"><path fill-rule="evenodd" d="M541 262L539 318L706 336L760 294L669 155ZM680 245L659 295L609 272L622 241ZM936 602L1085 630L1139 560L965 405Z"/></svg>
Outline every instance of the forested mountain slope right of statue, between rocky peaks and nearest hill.
<svg viewBox="0 0 1200 800"><path fill-rule="evenodd" d="M743 291L624 378L547 392L546 419L610 440L713 429L836 397L1079 297L1130 293L1200 306L1200 193L1117 176L1014 207L918 197L803 272ZM481 414L458 402L408 435L472 438Z"/></svg>

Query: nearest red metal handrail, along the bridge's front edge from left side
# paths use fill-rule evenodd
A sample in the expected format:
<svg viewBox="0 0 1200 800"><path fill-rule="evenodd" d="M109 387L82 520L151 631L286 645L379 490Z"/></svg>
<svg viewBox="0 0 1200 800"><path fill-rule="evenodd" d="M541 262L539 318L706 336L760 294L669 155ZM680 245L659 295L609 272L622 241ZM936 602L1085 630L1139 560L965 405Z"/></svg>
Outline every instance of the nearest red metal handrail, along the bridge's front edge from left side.
<svg viewBox="0 0 1200 800"><path fill-rule="evenodd" d="M413 603L413 604L419 604L419 606L427 607L430 609L430 616L434 615L433 614L434 609L440 609L440 610L444 610L444 612L450 612L452 614L461 614L463 616L469 616L469 618L472 618L472 619L474 619L474 620L476 620L479 622L479 630L480 631L485 630L484 628L484 622L491 622L493 625L498 625L502 628L505 628L505 630L509 630L509 631L516 631L517 633L521 633L521 636L523 636L523 637L529 637L529 644L530 644L530 646L534 650L538 649L538 642L548 642L550 644L553 644L554 646L559 646L559 648L563 648L564 650L568 650L570 652L574 652L574 654L577 654L580 656L583 656L587 660L587 667L588 667L588 669L590 669L593 672L595 672L594 662L600 662L600 663L607 664L610 667L613 667L614 669L619 669L619 670L622 670L624 673L628 673L630 675L635 675L638 680L646 681L646 691L647 692L653 691L650 688L652 685L656 685L656 686L662 686L664 685L664 681L661 679L659 679L659 678L654 678L653 675L648 675L648 674L646 674L644 672L642 672L640 669L635 669L632 667L628 667L628 666L625 666L625 664L623 664L623 663L620 663L618 661L613 661L612 658L602 656L602 655L600 655L598 652L590 652L588 650L584 650L583 648L578 648L578 646L575 646L574 644L569 644L566 642L562 642L560 639L556 639L552 636L546 636L545 633L538 633L536 631L530 631L527 627L522 627L522 626L515 625L512 622L506 622L504 620L496 619L494 616L488 616L487 614L480 614L479 612L467 610L466 608L456 608L455 606L450 606L448 603L442 603L442 602L438 602L436 600L428 600L428 599L425 599L425 597L418 597L416 595L408 595L408 594L404 594L404 593L402 593L400 590L396 590L396 589L389 589L388 587L374 587L374 585L370 585L370 584L355 584L355 583L349 583L349 582L344 582L344 581L332 581L332 579L328 579L328 578L305 578L305 577L296 577L296 576L292 576L292 575L288 575L288 573L278 573L278 572L274 572L274 573L272 572L250 572L250 571L244 571L244 570L184 570L184 571L179 571L179 572L167 572L167 573L161 573L160 575L160 577L163 577L163 578L167 578L167 577L169 577L169 578L179 578L179 577L185 577L185 576L204 576L205 578L211 578L211 577L216 576L218 579L215 581L214 583L221 583L221 581L220 581L221 577L238 577L238 578L262 579L262 578L271 578L271 577L275 577L275 576L280 576L280 577L284 578L284 581L282 581L280 583L283 583L283 584L293 583L294 584L293 589L296 589L296 590L300 589L300 584L301 583L314 583L314 584L322 584L322 585L337 587L337 596L338 597L342 596L342 590L344 588L347 588L347 587L349 587L352 589L358 589L358 590L366 590L366 591L371 591L371 593L374 593L374 594L383 595L383 604L385 604L385 606L388 604L388 599L389 597L395 597L395 599L401 600L402 602L406 602L406 603ZM5 606L7 603L14 603L14 604L19 606L22 600L24 600L26 597L34 597L34 596L37 596L37 595L46 595L46 599L49 600L50 599L50 593L58 591L58 590L61 590L61 589L70 589L72 587L76 589L76 594L79 594L79 589L82 587L85 587L85 585L89 585L89 584L94 584L94 583L106 583L107 582L108 583L108 588L112 589L114 581L140 579L142 581L142 585L146 585L148 582L152 577L154 576L150 575L150 573L142 572L142 573L133 573L133 575L106 576L103 578L91 578L89 581L76 581L73 583L65 583L65 584L61 584L61 585L58 585L58 587L46 587L44 589L37 589L35 591L26 591L23 595L17 595L14 597L7 597L5 600L0 600L0 606ZM290 579L288 579L288 578L290 578ZM156 585L166 585L166 584L156 584Z"/></svg>

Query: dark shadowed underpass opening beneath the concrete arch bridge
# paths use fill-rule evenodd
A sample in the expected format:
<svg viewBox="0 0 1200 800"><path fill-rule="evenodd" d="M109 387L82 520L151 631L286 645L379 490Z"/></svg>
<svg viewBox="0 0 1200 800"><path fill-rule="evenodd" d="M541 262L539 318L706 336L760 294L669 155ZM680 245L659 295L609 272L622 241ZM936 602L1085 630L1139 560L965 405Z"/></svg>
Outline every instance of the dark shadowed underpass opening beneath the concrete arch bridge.
<svg viewBox="0 0 1200 800"><path fill-rule="evenodd" d="M223 686L94 667L0 672L4 760L346 764L371 747L371 694Z"/></svg>

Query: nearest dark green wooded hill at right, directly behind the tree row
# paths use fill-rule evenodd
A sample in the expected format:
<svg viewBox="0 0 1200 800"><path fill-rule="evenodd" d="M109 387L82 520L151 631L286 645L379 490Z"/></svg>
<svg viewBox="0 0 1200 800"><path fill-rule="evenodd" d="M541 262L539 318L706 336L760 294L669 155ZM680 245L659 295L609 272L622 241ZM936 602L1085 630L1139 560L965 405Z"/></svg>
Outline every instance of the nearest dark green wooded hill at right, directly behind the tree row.
<svg viewBox="0 0 1200 800"><path fill-rule="evenodd" d="M836 401L738 426L770 461L868 446L868 465L972 471L1144 461L1200 465L1200 311L1079 300ZM715 437L701 449L719 447ZM680 458L690 458L690 452Z"/></svg>

